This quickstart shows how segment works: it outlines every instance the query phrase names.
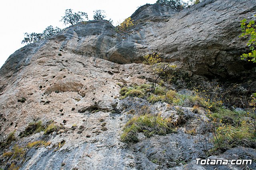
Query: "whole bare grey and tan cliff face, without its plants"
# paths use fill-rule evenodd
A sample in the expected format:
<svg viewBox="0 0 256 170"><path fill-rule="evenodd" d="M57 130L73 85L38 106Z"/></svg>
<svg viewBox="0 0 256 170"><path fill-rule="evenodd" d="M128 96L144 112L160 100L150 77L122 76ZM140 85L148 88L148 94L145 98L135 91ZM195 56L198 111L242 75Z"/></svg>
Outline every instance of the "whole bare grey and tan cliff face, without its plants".
<svg viewBox="0 0 256 170"><path fill-rule="evenodd" d="M23 147L36 140L51 145L26 148L22 163L0 157L0 168L12 163L22 170L184 169L184 163L189 169L209 168L193 162L204 152L198 136L186 128L199 131L207 117L190 107L180 107L181 117L167 103L150 105L141 99L162 117L172 115L183 123L177 133L151 138L139 134L136 144L121 142L137 99L120 100L120 86L147 83L150 75L142 59L152 50L195 75L237 78L255 71L255 65L240 60L246 41L238 38L240 20L252 18L255 10L253 1L244 0L205 0L182 11L146 4L132 14L134 26L125 32L105 20L81 22L17 50L0 69L0 142L14 130L17 137L35 121L46 125L53 120L62 129L17 137ZM22 98L26 101L18 102ZM255 160L252 148L234 148L220 157L248 153Z"/></svg>

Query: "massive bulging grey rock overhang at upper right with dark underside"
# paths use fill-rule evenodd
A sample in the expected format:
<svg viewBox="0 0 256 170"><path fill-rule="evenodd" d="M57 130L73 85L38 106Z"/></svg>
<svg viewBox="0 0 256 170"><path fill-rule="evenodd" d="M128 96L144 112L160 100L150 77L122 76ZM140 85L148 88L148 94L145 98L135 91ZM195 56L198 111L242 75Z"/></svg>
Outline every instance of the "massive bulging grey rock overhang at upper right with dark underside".
<svg viewBox="0 0 256 170"><path fill-rule="evenodd" d="M205 0L170 17L151 45L196 74L237 76L248 67L240 60L240 20L254 18L255 9L254 1Z"/></svg>

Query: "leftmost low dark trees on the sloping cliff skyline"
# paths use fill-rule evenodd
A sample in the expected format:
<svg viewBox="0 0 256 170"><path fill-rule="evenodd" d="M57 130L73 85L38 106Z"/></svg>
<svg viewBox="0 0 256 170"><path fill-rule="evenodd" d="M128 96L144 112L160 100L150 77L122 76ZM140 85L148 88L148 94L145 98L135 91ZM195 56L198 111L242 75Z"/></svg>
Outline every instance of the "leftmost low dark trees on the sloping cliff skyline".
<svg viewBox="0 0 256 170"><path fill-rule="evenodd" d="M26 44L34 43L34 42L43 40L45 38L48 38L50 36L53 36L54 34L57 34L60 31L61 31L61 29L58 27L53 28L53 26L48 26L42 33L32 32L31 34L28 34L26 32L26 33L24 33L24 36L25 36L24 40L22 40L21 43L22 44L23 43L26 43Z"/></svg>

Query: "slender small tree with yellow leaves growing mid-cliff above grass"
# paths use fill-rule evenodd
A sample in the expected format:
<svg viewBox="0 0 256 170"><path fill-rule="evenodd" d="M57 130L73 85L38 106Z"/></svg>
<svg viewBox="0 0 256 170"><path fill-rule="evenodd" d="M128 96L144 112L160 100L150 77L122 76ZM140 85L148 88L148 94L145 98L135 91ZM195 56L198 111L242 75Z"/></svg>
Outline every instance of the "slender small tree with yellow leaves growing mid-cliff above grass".
<svg viewBox="0 0 256 170"><path fill-rule="evenodd" d="M151 53L148 55L144 56L144 64L147 64L150 66L150 74L152 77L152 89L151 92L153 93L156 89L156 82L158 81L158 79L160 78L160 76L162 74L164 74L166 72L166 70L170 67L172 67L172 65L170 65L170 63L166 63L166 61L161 62L161 58L159 57L160 53ZM173 66L173 67L176 67Z"/></svg>

